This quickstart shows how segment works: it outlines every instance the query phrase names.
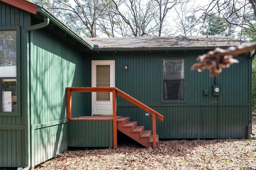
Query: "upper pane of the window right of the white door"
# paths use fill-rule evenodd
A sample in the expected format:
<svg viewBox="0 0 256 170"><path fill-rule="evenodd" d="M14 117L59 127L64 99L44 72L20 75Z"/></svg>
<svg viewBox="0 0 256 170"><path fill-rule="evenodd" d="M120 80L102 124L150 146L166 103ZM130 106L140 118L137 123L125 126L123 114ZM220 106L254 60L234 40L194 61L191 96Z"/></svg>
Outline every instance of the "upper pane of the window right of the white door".
<svg viewBox="0 0 256 170"><path fill-rule="evenodd" d="M164 60L164 79L183 79L184 60Z"/></svg>

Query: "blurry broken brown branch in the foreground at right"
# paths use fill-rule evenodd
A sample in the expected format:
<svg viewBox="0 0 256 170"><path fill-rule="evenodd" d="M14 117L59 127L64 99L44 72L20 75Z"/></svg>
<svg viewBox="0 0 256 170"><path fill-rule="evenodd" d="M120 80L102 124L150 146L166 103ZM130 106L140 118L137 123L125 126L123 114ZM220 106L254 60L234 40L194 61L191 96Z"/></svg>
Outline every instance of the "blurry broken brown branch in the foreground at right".
<svg viewBox="0 0 256 170"><path fill-rule="evenodd" d="M198 56L196 60L201 63L193 64L191 69L197 69L198 72L201 72L202 69L208 69L210 76L218 76L222 72L222 68L227 68L233 63L239 63L238 60L232 58L233 56L250 53L253 49L256 49L256 43L229 47L228 49L216 48L213 51Z"/></svg>

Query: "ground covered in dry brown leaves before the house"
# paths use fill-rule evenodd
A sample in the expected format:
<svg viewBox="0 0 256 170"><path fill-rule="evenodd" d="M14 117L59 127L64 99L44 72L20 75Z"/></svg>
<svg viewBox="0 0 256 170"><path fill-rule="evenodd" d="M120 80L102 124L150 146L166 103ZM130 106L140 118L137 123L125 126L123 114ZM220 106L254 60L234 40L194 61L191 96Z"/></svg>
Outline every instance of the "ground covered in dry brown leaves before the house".
<svg viewBox="0 0 256 170"><path fill-rule="evenodd" d="M256 133L256 116L252 133ZM157 150L133 144L118 149L70 149L35 170L256 169L256 138L160 141Z"/></svg>

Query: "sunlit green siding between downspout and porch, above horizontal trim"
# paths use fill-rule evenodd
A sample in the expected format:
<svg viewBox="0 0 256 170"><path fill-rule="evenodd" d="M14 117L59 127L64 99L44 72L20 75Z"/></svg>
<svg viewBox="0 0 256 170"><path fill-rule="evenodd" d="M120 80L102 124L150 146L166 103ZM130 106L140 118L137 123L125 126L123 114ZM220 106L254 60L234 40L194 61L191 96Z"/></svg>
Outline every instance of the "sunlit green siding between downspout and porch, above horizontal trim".
<svg viewBox="0 0 256 170"><path fill-rule="evenodd" d="M31 33L31 124L66 118L66 87L72 86L78 57L71 47L61 45L58 36L46 30Z"/></svg>

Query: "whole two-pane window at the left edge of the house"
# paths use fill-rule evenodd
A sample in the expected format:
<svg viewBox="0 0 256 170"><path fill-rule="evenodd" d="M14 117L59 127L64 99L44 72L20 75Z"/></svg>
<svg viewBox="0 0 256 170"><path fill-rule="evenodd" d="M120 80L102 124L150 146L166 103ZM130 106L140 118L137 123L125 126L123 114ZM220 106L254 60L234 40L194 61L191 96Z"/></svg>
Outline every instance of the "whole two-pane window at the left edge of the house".
<svg viewBox="0 0 256 170"><path fill-rule="evenodd" d="M0 112L17 112L16 30L0 30Z"/></svg>

